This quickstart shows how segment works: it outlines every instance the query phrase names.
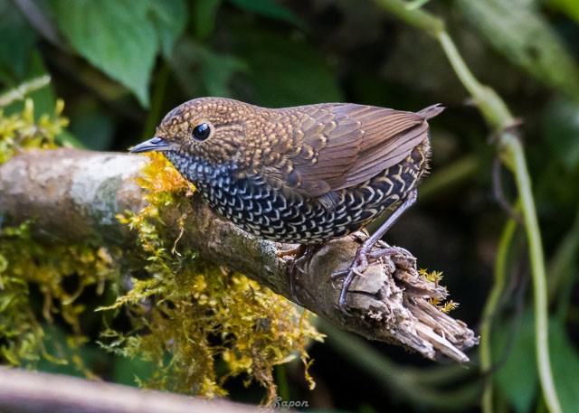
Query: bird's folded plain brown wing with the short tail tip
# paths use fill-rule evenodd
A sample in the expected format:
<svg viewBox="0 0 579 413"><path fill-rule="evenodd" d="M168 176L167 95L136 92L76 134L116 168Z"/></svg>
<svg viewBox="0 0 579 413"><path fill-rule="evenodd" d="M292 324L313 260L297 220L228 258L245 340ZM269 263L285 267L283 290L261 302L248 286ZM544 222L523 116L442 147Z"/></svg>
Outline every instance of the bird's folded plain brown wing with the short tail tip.
<svg viewBox="0 0 579 413"><path fill-rule="evenodd" d="M292 125L286 129L290 139L280 140L278 148L285 174L271 165L264 167L265 176L310 197L363 183L410 155L427 138L426 120L442 110L339 103L279 109L280 121Z"/></svg>

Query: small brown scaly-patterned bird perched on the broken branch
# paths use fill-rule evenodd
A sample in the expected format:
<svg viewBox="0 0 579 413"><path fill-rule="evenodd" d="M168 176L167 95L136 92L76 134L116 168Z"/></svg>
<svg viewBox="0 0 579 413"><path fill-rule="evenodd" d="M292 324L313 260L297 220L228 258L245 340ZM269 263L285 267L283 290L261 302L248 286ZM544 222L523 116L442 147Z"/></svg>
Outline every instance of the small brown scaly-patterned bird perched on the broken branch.
<svg viewBox="0 0 579 413"><path fill-rule="evenodd" d="M428 119L418 112L353 103L261 108L235 99L197 98L163 118L155 136L130 152L158 151L206 202L249 233L276 242L321 245L388 218L356 250L338 299L370 251L417 199L428 172Z"/></svg>

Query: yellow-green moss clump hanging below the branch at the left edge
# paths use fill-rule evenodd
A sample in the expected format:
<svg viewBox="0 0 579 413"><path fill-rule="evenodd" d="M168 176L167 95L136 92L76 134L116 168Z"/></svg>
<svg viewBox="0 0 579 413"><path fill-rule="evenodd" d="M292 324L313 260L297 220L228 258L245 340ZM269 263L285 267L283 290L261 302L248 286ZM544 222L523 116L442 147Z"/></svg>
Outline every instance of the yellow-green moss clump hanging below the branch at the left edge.
<svg viewBox="0 0 579 413"><path fill-rule="evenodd" d="M82 245L39 244L30 237L25 223L0 231L0 258L5 263L0 267L0 336L5 337L0 361L34 367L42 356L58 364L71 363L90 376L78 354L87 340L81 331L85 306L79 297L88 286L102 292L106 280L118 277L109 253ZM69 280L75 285L72 290L65 287ZM42 298L40 313L46 321L58 316L70 326L66 343L46 333L33 311L36 296ZM55 353L46 350L47 344Z"/></svg>

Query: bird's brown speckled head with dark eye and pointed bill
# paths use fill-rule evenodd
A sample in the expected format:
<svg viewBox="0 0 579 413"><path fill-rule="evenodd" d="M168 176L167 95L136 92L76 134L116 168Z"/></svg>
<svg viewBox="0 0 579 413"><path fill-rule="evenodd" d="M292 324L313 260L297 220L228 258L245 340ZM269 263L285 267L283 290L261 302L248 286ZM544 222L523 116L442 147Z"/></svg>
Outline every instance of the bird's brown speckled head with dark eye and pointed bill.
<svg viewBox="0 0 579 413"><path fill-rule="evenodd" d="M224 164L243 145L254 111L255 107L233 99L189 100L166 115L154 137L130 152L174 152Z"/></svg>

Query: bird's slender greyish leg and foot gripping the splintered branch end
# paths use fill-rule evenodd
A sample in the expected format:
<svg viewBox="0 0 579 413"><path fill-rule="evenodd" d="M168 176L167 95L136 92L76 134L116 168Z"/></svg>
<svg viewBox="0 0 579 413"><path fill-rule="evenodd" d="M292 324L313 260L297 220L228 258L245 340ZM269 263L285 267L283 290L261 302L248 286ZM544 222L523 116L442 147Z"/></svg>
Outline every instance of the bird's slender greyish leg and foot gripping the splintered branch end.
<svg viewBox="0 0 579 413"><path fill-rule="evenodd" d="M344 282L342 284L340 296L337 301L337 305L339 306L340 310L342 310L343 313L349 314L348 311L346 310L347 292L350 286L352 285L354 278L356 278L356 276L361 276L362 273L365 271L365 269L368 267L368 257L370 256L371 258L380 258L384 257L384 255L388 255L388 253L393 251L392 249L386 248L377 251L380 252L380 255L378 256L375 256L374 254L370 255L370 251L374 248L375 243L378 242L384 236L384 234L388 230L390 230L390 228L392 228L394 222L398 221L398 219L400 218L400 216L403 214L404 211L413 206L414 202L416 202L416 198L417 198L417 191L414 189L413 192L410 192L408 197L406 197L406 199L398 206L398 208L396 208L390 214L388 219L384 221L384 223L380 226L380 228L378 228L378 230L376 230L374 234L372 234L368 239L364 241L364 243L360 247L358 247L358 249L356 250L356 258L354 258L354 262L352 263L352 265L350 265L350 267L347 268L345 271L338 271L332 274L332 278L334 279L337 277L344 277Z"/></svg>

